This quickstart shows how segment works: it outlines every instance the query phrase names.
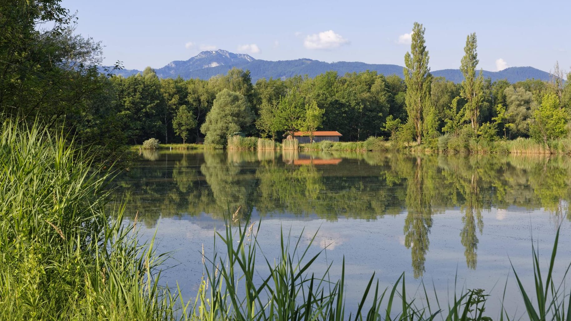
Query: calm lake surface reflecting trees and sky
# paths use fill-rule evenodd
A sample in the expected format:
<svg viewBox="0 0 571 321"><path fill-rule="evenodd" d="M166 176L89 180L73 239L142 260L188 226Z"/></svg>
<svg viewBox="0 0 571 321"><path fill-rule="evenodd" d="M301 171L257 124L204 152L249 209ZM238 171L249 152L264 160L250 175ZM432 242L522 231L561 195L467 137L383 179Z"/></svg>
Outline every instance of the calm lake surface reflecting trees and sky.
<svg viewBox="0 0 571 321"><path fill-rule="evenodd" d="M332 263L339 277L344 258L348 311L373 272L383 289L404 272L407 295L419 300L422 282L441 304L455 287L484 289L494 319L505 287L506 309L519 317L525 306L510 262L532 292L532 239L546 266L558 226L556 282L571 262L565 156L143 151L117 182L142 238L156 232L157 250L174 251L163 281L178 282L189 299L204 273L202 248L212 257L214 230L238 208L260 225L270 262L280 230L301 247L317 233L310 252L325 250L316 275Z"/></svg>

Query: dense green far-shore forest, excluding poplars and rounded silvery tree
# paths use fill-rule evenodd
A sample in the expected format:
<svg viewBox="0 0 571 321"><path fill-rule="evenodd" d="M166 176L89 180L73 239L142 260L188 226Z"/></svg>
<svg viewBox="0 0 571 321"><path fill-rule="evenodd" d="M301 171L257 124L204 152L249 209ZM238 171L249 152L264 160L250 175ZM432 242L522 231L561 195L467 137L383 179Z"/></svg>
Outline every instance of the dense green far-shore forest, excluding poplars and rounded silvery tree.
<svg viewBox="0 0 571 321"><path fill-rule="evenodd" d="M530 130L541 121L538 117L546 108L561 111L562 129L566 131L571 102L568 82L530 79L512 84L506 80L490 82L481 77L473 78L479 90L477 101L471 98L473 93L465 91L466 82L455 84L444 78L427 80L428 99L423 105L429 109L425 117L432 117L432 128L424 128L421 136L428 140L445 134L478 136L486 140L530 137L533 135ZM407 128L410 123L407 84L395 75L367 71L340 76L326 72L315 78L260 79L252 84L249 72L238 69L209 80L183 80L159 79L147 68L143 74L127 78L114 76L110 82L114 88L113 108L122 117L121 131L131 144L151 137L162 143L182 141L172 126L181 108L190 112L195 120L188 139L196 141L204 136L200 128L216 100L227 100L230 92L243 97L247 104L247 108L242 108L244 115L237 119L248 121L236 132L242 131L248 136L280 140L290 129L303 128L304 117L312 104L323 111L319 129L339 131L344 141L365 140L369 136L412 140L414 134ZM230 106L225 104L223 108ZM467 115L470 108L477 109L476 116ZM477 124L477 129L472 124ZM468 125L471 132L465 130Z"/></svg>

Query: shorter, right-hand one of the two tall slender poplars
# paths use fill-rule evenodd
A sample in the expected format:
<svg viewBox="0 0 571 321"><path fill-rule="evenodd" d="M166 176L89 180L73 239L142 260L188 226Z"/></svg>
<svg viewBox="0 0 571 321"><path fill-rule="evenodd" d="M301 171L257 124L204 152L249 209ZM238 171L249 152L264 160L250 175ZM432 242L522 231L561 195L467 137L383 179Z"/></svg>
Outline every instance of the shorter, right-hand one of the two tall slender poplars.
<svg viewBox="0 0 571 321"><path fill-rule="evenodd" d="M466 99L467 103L464 105L465 115L472 124L474 132L478 132L478 116L480 115L480 105L484 98L484 76L480 70L480 74L476 76L476 67L478 66L478 47L476 40L476 32L469 34L466 37L466 46L464 46L464 56L460 64L460 71L464 75L462 82L462 90L460 95Z"/></svg>

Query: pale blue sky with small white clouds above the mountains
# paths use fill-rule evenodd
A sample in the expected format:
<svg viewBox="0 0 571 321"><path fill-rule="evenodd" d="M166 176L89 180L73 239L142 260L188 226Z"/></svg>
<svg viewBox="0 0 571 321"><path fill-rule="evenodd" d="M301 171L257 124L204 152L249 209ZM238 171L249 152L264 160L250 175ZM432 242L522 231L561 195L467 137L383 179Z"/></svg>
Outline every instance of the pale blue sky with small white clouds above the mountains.
<svg viewBox="0 0 571 321"><path fill-rule="evenodd" d="M423 23L432 70L459 68L476 32L478 68L571 67L571 1L63 0L77 33L102 41L104 64L142 70L224 49L256 59L403 65Z"/></svg>

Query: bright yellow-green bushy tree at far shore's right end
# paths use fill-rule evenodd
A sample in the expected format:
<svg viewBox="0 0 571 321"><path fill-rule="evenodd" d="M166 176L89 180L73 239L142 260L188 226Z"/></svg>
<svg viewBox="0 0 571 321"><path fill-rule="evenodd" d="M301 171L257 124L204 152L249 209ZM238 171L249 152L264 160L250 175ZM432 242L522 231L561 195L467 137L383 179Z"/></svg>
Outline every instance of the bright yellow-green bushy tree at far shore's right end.
<svg viewBox="0 0 571 321"><path fill-rule="evenodd" d="M540 107L533 111L533 122L529 125L529 135L548 145L548 141L567 136L569 115L561 108L556 94L545 94Z"/></svg>

